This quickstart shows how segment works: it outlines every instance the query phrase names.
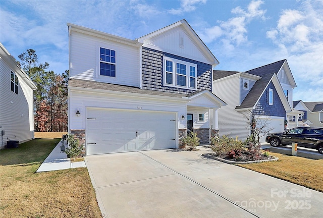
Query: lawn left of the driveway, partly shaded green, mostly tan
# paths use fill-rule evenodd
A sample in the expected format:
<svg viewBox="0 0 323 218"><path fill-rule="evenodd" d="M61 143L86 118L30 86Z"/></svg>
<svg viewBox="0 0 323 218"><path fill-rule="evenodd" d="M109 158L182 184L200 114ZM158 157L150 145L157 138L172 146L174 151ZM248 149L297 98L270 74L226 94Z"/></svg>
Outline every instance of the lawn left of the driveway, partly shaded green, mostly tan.
<svg viewBox="0 0 323 218"><path fill-rule="evenodd" d="M101 217L86 168L35 173L59 141L0 151L0 217Z"/></svg>

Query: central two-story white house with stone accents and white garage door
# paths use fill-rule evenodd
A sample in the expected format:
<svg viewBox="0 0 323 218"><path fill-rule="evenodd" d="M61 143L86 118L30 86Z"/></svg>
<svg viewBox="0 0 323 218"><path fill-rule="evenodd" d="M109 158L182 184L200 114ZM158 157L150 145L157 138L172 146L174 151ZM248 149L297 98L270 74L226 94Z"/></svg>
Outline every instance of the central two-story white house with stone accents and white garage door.
<svg viewBox="0 0 323 218"><path fill-rule="evenodd" d="M211 92L219 62L186 20L135 40L67 25L69 132L86 155L177 148L187 130L208 143L217 133L209 115L226 105Z"/></svg>

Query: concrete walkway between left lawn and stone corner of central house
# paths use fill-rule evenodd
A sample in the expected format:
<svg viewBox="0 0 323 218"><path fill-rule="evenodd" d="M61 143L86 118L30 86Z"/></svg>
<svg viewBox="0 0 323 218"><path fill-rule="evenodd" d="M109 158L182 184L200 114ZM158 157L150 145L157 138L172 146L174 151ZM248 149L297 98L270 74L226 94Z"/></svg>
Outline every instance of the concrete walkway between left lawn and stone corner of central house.
<svg viewBox="0 0 323 218"><path fill-rule="evenodd" d="M84 161L71 162L71 159L67 158L66 153L61 152L60 146L62 144L63 144L63 140L61 140L56 145L56 147L50 152L47 158L41 163L36 173L86 167ZM64 142L64 145L65 147L67 147L66 141Z"/></svg>

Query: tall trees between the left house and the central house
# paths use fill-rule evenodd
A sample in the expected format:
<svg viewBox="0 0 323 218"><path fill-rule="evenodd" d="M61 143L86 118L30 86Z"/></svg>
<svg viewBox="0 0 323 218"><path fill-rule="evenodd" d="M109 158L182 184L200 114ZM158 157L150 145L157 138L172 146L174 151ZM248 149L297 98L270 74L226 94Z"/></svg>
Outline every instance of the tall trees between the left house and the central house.
<svg viewBox="0 0 323 218"><path fill-rule="evenodd" d="M67 132L67 84L69 71L56 74L49 64L38 63L34 49L22 52L17 61L37 86L34 91L34 130L36 132Z"/></svg>

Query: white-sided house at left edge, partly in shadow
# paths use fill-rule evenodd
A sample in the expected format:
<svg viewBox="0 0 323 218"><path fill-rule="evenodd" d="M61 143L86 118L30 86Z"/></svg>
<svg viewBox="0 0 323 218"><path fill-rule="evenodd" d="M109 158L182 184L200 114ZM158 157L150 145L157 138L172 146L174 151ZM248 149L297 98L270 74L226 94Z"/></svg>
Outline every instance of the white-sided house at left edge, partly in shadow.
<svg viewBox="0 0 323 218"><path fill-rule="evenodd" d="M5 148L8 140L22 143L33 139L36 86L2 43L0 72L0 148Z"/></svg>

